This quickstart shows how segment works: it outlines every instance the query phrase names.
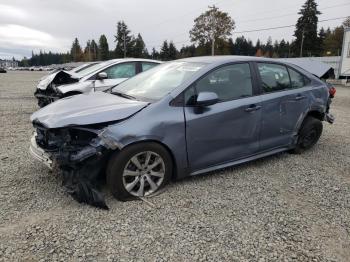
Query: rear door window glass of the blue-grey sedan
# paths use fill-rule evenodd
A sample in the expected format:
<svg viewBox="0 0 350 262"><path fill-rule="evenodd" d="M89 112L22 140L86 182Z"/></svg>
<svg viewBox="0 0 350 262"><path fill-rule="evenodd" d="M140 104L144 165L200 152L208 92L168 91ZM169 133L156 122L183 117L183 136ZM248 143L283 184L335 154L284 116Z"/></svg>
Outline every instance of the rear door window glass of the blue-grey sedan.
<svg viewBox="0 0 350 262"><path fill-rule="evenodd" d="M287 68L282 65L258 63L259 73L265 92L290 88Z"/></svg>

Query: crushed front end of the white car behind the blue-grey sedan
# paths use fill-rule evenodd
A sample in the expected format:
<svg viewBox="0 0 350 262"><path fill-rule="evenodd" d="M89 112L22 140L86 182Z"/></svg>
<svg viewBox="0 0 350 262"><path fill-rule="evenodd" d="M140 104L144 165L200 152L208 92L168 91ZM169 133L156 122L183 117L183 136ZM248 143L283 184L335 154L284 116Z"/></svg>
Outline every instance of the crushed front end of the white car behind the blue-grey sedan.
<svg viewBox="0 0 350 262"><path fill-rule="evenodd" d="M38 99L39 107L44 107L63 97L63 94L56 88L57 86L73 84L78 81L78 79L65 71L55 72L42 79L34 92L34 96Z"/></svg>

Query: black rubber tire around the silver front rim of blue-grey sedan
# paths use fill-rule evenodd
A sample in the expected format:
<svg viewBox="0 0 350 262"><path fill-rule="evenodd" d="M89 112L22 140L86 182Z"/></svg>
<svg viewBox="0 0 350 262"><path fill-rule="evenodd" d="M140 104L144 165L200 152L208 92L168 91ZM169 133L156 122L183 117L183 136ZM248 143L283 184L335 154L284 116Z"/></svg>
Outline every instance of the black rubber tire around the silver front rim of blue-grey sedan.
<svg viewBox="0 0 350 262"><path fill-rule="evenodd" d="M124 186L123 172L124 168L126 168L126 165L130 163L129 161L131 161L131 158L137 154L147 151L154 152L160 156L165 167L165 171L163 170L163 180L160 186L149 196L152 196L169 182L173 172L173 161L169 152L162 145L154 142L145 142L130 145L125 149L122 149L120 152L113 153L107 165L107 185L113 196L118 200L126 201L137 198L137 196L132 195L126 190ZM149 183L148 186L150 187Z"/></svg>

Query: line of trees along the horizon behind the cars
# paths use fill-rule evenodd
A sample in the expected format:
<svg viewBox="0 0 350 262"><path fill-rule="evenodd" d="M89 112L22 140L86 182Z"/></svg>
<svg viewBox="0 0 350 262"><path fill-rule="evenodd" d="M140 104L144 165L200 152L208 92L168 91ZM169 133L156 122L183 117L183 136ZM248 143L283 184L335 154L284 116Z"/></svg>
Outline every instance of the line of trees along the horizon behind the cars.
<svg viewBox="0 0 350 262"><path fill-rule="evenodd" d="M190 45L177 49L172 40L163 41L159 51L155 48L149 52L140 33L133 35L124 21L117 23L114 35L114 48L110 49L107 37L101 35L98 41L88 40L84 47L75 38L67 53L40 52L32 53L30 59L23 59L21 65L50 65L66 62L104 61L113 58L134 57L157 60L174 60L177 58L203 55L245 55L273 58L302 56L340 55L344 27L350 26L347 18L341 26L334 29L321 27L318 30L318 16L321 12L315 0L306 0L298 12L293 41L275 40L269 37L263 43L259 39L253 43L243 35L232 38L235 28L234 20L228 13L212 6L194 20L190 34ZM212 25L213 21L216 22Z"/></svg>

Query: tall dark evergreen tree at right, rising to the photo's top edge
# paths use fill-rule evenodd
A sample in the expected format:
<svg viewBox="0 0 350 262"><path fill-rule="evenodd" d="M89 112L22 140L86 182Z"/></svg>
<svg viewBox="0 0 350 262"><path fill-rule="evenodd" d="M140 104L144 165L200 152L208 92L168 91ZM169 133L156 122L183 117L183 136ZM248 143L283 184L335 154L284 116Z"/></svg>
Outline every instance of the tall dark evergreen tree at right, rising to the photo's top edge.
<svg viewBox="0 0 350 262"><path fill-rule="evenodd" d="M306 0L298 14L301 16L295 26L294 51L295 53L299 51L300 56L317 55L319 50L317 50L315 43L318 42L317 23L318 15L321 12L318 11L315 0Z"/></svg>

